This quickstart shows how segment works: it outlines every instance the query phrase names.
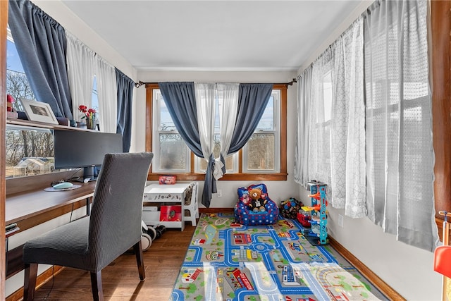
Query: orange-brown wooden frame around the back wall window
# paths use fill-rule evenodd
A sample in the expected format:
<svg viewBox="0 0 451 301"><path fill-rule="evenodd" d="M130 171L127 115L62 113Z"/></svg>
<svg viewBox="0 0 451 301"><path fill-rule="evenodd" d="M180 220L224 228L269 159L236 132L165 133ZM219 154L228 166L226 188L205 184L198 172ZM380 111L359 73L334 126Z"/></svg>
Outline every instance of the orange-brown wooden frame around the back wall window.
<svg viewBox="0 0 451 301"><path fill-rule="evenodd" d="M157 83L146 84L146 152L153 151L154 139L154 90L159 89ZM243 172L243 154L242 149L237 153L238 172L226 173L221 180L287 180L287 90L288 84L274 84L273 90L280 90L280 171L271 173L245 173ZM171 173L177 176L178 180L204 180L205 173L194 171L195 156L190 152L190 173ZM159 176L167 173L154 173L152 166L149 170L148 180L158 180Z"/></svg>

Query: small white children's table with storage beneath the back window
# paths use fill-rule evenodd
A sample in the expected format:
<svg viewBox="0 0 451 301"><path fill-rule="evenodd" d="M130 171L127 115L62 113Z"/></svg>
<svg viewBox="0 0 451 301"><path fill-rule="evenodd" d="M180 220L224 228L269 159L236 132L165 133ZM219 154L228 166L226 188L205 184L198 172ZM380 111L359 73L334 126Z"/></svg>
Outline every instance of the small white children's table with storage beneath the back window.
<svg viewBox="0 0 451 301"><path fill-rule="evenodd" d="M160 210L147 211L144 207L142 219L149 225L163 225L166 228L185 229L185 191L190 183L175 183L173 185L151 184L144 188L144 203L173 203L182 207L182 216L180 221L160 221Z"/></svg>

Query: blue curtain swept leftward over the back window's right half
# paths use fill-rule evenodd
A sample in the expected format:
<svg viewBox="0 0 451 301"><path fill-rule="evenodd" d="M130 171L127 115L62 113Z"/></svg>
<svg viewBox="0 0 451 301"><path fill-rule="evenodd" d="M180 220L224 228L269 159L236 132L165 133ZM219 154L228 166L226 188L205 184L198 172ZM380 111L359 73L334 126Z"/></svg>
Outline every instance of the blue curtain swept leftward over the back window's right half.
<svg viewBox="0 0 451 301"><path fill-rule="evenodd" d="M237 122L228 154L238 152L252 137L272 91L273 84L240 84Z"/></svg>

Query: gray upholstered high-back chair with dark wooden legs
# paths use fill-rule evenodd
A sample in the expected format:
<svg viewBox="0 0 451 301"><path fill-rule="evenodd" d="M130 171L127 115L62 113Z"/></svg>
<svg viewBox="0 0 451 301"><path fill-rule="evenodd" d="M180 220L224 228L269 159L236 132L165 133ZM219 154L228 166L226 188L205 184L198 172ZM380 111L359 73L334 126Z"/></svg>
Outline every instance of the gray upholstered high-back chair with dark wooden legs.
<svg viewBox="0 0 451 301"><path fill-rule="evenodd" d="M142 198L152 153L106 154L97 178L91 215L25 243L24 300L33 300L38 264L91 273L92 296L103 300L101 270L133 247L144 281L141 249ZM49 192L54 193L54 192Z"/></svg>

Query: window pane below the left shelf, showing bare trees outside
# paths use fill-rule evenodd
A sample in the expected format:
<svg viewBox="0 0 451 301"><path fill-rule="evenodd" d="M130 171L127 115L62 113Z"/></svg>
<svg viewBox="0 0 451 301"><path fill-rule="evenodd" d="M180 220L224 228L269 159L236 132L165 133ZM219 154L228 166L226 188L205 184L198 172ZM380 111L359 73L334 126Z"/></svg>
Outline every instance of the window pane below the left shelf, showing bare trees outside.
<svg viewBox="0 0 451 301"><path fill-rule="evenodd" d="M54 135L50 130L6 128L6 178L54 171Z"/></svg>

